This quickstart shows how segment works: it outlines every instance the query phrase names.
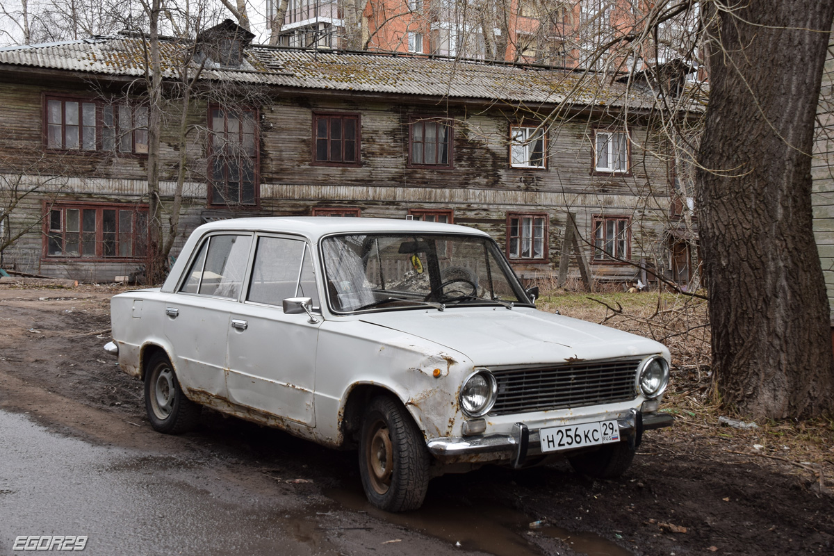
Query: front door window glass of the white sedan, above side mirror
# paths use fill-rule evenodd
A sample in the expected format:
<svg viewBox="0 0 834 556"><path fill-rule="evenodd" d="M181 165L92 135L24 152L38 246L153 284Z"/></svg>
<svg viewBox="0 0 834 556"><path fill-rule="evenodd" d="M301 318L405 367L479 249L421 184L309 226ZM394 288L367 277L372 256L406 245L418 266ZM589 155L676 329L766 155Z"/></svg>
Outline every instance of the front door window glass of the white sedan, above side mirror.
<svg viewBox="0 0 834 556"><path fill-rule="evenodd" d="M286 298L313 298L313 305L319 305L307 243L297 239L259 238L246 299L280 305Z"/></svg>

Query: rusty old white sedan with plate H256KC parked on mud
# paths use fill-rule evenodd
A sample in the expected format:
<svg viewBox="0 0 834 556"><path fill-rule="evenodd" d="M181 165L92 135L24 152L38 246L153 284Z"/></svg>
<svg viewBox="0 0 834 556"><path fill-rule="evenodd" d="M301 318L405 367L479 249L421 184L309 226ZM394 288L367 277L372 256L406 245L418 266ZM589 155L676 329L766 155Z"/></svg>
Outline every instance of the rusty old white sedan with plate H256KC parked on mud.
<svg viewBox="0 0 834 556"><path fill-rule="evenodd" d="M520 239L520 241L527 241ZM197 228L162 288L112 301L153 428L207 406L359 448L371 503L418 508L430 478L566 457L612 478L669 378L661 343L536 310L499 246L451 224L245 218Z"/></svg>

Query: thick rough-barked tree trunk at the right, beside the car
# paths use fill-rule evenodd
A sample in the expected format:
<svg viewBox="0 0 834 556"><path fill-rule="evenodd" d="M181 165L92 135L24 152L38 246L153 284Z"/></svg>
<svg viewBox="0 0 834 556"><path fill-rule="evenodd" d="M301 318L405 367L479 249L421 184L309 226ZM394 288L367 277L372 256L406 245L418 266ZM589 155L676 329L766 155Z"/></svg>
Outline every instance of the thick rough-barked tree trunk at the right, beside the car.
<svg viewBox="0 0 834 556"><path fill-rule="evenodd" d="M808 418L834 408L809 155L834 2L715 7L697 183L716 388L755 418Z"/></svg>

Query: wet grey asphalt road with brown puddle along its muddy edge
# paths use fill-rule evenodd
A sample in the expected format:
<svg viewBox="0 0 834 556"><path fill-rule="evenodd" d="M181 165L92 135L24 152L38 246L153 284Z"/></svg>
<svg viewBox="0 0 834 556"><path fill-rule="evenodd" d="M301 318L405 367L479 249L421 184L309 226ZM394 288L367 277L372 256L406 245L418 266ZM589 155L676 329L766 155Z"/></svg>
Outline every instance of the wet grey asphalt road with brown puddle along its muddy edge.
<svg viewBox="0 0 834 556"><path fill-rule="evenodd" d="M277 478L188 442L173 453L100 445L5 411L0 431L3 554L27 553L13 549L23 536L38 537L30 547L86 537L88 554L560 553L525 539L529 517L501 505L440 498L394 515L370 507L358 485L322 496L314 479ZM627 554L595 535L538 533L581 553Z"/></svg>

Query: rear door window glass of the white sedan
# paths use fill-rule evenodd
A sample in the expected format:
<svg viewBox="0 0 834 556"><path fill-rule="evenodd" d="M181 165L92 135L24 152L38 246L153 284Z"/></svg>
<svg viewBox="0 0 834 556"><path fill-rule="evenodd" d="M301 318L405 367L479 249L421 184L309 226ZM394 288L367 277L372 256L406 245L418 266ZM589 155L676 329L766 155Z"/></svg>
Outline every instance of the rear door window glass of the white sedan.
<svg viewBox="0 0 834 556"><path fill-rule="evenodd" d="M210 236L200 248L179 291L237 299L244 283L252 237Z"/></svg>

